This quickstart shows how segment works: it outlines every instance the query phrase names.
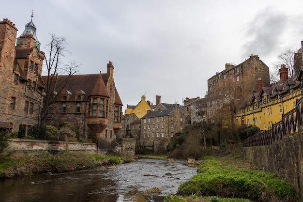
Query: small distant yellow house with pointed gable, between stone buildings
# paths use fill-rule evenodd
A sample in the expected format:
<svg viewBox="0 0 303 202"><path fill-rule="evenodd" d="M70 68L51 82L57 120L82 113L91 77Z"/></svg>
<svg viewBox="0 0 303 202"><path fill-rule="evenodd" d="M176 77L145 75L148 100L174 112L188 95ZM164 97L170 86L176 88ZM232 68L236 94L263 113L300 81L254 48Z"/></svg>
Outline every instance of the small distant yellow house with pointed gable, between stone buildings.
<svg viewBox="0 0 303 202"><path fill-rule="evenodd" d="M141 101L136 105L127 105L124 114L134 113L140 119L147 111L152 110L150 102L146 101L145 95L142 95Z"/></svg>

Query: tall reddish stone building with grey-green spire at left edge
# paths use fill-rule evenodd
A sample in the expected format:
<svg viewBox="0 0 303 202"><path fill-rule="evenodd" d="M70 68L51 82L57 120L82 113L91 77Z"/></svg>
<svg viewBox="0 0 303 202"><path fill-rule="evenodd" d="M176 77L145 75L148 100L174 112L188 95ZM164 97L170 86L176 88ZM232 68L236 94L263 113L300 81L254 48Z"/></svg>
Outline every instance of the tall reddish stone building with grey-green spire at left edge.
<svg viewBox="0 0 303 202"><path fill-rule="evenodd" d="M32 16L31 16L32 17ZM17 36L15 24L8 19L0 21L0 127L19 130L40 123L41 78L44 52L32 22Z"/></svg>

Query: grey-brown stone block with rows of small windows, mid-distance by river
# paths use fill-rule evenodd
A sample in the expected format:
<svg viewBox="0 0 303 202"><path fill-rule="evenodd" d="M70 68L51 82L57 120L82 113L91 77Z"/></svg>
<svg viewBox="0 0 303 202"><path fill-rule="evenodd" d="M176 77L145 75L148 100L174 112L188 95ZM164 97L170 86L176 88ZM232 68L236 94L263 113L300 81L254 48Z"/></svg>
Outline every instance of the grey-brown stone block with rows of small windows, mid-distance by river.
<svg viewBox="0 0 303 202"><path fill-rule="evenodd" d="M163 109L164 106L170 107ZM159 103L155 110L141 118L140 145L152 151L166 151L176 133L182 132L184 124L183 106Z"/></svg>

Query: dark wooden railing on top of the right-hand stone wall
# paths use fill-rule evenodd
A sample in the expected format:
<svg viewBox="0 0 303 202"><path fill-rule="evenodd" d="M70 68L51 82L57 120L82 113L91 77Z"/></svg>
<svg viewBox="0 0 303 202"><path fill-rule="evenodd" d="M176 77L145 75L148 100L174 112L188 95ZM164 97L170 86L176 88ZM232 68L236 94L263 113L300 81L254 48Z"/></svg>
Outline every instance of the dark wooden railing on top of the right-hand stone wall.
<svg viewBox="0 0 303 202"><path fill-rule="evenodd" d="M282 115L282 120L273 124L272 129L243 140L243 147L271 145L285 135L298 131L303 124L303 99L296 100L296 107Z"/></svg>

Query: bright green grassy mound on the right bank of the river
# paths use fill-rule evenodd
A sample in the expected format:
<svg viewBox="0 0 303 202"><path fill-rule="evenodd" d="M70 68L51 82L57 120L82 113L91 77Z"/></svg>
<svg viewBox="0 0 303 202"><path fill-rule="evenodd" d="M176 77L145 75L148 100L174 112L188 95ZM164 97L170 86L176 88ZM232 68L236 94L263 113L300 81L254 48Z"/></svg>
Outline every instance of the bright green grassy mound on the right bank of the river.
<svg viewBox="0 0 303 202"><path fill-rule="evenodd" d="M182 196L182 197L181 197ZM197 174L165 202L296 202L296 189L271 172L233 157L206 157Z"/></svg>

